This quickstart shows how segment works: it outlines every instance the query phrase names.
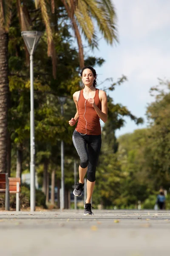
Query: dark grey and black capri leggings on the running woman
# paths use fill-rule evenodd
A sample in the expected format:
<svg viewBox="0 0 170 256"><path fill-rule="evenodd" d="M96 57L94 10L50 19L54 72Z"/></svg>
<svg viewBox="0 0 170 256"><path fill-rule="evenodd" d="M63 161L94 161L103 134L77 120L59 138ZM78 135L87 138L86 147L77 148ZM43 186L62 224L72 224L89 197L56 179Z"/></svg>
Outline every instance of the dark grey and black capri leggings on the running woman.
<svg viewBox="0 0 170 256"><path fill-rule="evenodd" d="M80 166L82 168L88 166L88 180L94 182L96 180L96 166L102 145L101 135L81 135L78 131L74 130L73 143L80 157Z"/></svg>

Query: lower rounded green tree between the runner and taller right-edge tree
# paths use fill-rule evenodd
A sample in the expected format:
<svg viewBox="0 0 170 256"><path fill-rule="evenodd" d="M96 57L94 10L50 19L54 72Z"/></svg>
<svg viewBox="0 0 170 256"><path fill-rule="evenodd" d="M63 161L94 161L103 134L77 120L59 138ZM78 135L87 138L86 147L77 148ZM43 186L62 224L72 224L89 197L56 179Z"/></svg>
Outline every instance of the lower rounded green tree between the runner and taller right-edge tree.
<svg viewBox="0 0 170 256"><path fill-rule="evenodd" d="M132 134L118 138L118 159L121 172L125 174L119 203L126 207L144 201L150 193L148 172L145 160L145 148L148 142L148 130L139 129Z"/></svg>

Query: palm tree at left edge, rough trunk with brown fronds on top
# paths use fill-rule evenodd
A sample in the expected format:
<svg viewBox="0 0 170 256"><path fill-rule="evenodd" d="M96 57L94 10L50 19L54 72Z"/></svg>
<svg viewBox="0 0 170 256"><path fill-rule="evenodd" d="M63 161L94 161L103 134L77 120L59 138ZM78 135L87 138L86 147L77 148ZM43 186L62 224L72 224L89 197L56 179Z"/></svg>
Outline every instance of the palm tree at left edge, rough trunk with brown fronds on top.
<svg viewBox="0 0 170 256"><path fill-rule="evenodd" d="M11 0L0 1L0 172L6 172L10 5Z"/></svg>

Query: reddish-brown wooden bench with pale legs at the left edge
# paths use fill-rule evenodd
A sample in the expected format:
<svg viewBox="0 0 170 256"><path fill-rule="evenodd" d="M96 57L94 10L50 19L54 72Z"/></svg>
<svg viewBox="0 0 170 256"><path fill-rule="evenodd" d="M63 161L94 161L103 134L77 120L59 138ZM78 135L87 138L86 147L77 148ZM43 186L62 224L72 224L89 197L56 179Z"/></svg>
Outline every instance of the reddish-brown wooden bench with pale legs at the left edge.
<svg viewBox="0 0 170 256"><path fill-rule="evenodd" d="M0 173L0 193L6 194L5 209L9 211L9 194L16 194L16 211L20 211L20 178L9 177Z"/></svg>

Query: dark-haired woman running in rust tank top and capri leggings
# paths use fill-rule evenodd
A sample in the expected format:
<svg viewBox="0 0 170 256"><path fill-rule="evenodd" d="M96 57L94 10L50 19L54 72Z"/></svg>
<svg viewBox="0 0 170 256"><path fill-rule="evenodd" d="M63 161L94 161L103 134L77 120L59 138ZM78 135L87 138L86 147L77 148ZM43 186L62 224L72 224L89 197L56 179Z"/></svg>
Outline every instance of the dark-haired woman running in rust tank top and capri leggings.
<svg viewBox="0 0 170 256"><path fill-rule="evenodd" d="M96 89L96 70L84 67L80 73L83 89L73 94L77 112L69 125L77 127L73 133L73 143L79 154L79 182L73 191L75 196L81 196L84 187L84 177L87 172L87 198L84 215L92 215L91 197L96 180L96 165L101 149L101 126L99 119L108 119L107 95L105 91Z"/></svg>

